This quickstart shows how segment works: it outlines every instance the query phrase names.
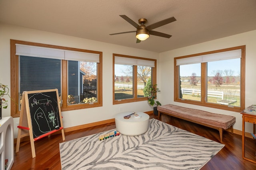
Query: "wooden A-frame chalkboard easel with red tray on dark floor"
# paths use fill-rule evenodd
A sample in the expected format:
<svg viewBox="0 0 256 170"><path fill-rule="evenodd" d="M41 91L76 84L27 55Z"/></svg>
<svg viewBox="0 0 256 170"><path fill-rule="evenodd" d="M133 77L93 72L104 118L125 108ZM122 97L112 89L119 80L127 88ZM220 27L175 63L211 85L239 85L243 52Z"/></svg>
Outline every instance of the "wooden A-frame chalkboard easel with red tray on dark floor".
<svg viewBox="0 0 256 170"><path fill-rule="evenodd" d="M61 130L65 140L58 90L37 90L23 92L16 152L20 138L29 136L32 158L36 156L34 141Z"/></svg>

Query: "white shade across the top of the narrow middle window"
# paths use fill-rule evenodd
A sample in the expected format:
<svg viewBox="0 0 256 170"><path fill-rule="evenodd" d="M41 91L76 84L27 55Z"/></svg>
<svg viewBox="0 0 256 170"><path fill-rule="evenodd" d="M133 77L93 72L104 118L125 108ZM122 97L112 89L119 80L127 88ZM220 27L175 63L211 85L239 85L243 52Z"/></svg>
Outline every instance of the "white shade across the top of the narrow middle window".
<svg viewBox="0 0 256 170"><path fill-rule="evenodd" d="M133 58L127 58L127 57L117 57L117 56L115 56L115 64L155 67L154 61L133 59Z"/></svg>

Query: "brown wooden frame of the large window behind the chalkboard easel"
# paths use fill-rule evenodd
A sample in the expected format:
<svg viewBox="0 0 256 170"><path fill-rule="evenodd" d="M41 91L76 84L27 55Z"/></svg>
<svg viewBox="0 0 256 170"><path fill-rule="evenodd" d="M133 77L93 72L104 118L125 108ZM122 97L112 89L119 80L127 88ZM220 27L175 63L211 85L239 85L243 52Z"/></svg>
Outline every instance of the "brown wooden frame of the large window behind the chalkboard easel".
<svg viewBox="0 0 256 170"><path fill-rule="evenodd" d="M75 104L75 105L68 105L66 102L62 102L61 111L69 111L69 110L76 110L76 109L86 109L86 108L92 108L92 107L100 107L102 106L102 52L100 51L91 51L91 50L85 50L85 49L76 49L71 47L63 47L63 46L57 46L57 45L48 45L48 44L42 44L42 43L33 43L28 41L20 41L20 40L14 40L10 39L10 67L11 67L11 116L12 117L20 117L20 111L19 111L19 102L20 97L18 93L18 78L19 78L19 72L18 72L18 66L19 66L19 57L16 54L16 44L22 44L22 45L32 45L32 46L38 46L38 47L46 47L46 48L54 48L54 49L62 49L62 50L69 50L69 51L80 51L85 53L95 53L100 55L100 63L97 63L97 84L98 84L98 97L97 102L93 104ZM62 60L62 77L61 77L61 89L62 89L62 99L68 98L68 61ZM60 92L59 92L60 93ZM64 101L64 100L63 100Z"/></svg>

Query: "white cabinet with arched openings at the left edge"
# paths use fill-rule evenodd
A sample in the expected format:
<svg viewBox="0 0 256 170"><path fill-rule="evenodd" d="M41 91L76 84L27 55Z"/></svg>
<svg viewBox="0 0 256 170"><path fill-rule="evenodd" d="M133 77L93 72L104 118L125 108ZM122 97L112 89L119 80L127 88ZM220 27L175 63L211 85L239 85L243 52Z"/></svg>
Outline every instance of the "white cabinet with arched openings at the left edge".
<svg viewBox="0 0 256 170"><path fill-rule="evenodd" d="M5 170L6 159L6 170L10 170L14 162L13 118L2 117L0 125L0 170Z"/></svg>

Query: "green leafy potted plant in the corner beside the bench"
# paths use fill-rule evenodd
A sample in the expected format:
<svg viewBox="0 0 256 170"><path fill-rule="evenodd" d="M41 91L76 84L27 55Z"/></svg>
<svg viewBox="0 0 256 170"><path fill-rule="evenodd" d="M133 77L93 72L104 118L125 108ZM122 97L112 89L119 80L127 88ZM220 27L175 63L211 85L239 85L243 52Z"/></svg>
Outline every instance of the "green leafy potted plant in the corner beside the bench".
<svg viewBox="0 0 256 170"><path fill-rule="evenodd" d="M144 92L145 96L148 97L148 103L151 106L156 105L155 107L153 107L154 110L154 115L158 115L158 111L157 111L157 106L161 106L161 103L159 101L156 101L156 93L160 92L159 88L156 87L157 84L151 84L148 89Z"/></svg>

